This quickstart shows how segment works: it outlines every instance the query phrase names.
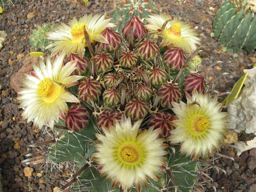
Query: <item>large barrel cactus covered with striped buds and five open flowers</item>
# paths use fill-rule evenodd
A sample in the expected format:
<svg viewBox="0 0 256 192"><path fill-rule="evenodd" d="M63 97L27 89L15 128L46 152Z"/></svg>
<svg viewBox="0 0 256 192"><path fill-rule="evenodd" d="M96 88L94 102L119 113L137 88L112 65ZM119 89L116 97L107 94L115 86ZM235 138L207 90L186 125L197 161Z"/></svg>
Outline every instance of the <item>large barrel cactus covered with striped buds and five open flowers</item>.
<svg viewBox="0 0 256 192"><path fill-rule="evenodd" d="M58 192L203 190L202 166L212 165L209 158L220 150L227 113L200 71L187 65L200 49L196 32L170 18L151 15L148 25L131 24L129 31L145 29L140 39L134 33L119 38L121 32L111 32L114 24L99 15L73 19L65 26L68 34L48 34L57 40L59 33L71 34L76 44L69 51L69 44L61 44L64 51L49 45L60 56L34 65L17 100L35 128L53 132L52 140L31 145L40 149L24 162L75 162ZM111 49L104 45L111 39L106 30L118 36ZM77 59L64 64L74 54ZM73 73L79 58L88 61L84 76Z"/></svg>

